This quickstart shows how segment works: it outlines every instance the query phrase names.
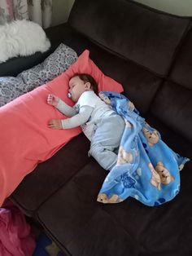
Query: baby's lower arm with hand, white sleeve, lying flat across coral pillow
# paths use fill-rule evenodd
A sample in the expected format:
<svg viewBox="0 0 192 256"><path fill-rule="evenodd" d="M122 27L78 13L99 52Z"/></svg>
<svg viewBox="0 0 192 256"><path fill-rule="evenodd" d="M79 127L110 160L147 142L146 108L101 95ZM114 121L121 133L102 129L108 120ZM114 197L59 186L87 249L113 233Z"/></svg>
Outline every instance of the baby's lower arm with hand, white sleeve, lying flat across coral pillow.
<svg viewBox="0 0 192 256"><path fill-rule="evenodd" d="M70 129L77 126L83 125L86 121L89 120L89 117L94 108L89 106L83 106L80 108L80 112L75 116L68 119L54 119L51 120L48 126L52 129Z"/></svg>

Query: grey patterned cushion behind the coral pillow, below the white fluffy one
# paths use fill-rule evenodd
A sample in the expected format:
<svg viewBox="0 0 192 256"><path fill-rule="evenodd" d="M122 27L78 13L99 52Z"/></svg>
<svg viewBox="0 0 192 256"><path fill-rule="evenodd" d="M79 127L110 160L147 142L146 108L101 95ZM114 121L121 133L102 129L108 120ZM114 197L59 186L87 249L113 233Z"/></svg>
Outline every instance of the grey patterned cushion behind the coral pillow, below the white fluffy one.
<svg viewBox="0 0 192 256"><path fill-rule="evenodd" d="M41 64L24 70L17 77L0 77L0 107L58 77L76 60L76 51L61 43Z"/></svg>

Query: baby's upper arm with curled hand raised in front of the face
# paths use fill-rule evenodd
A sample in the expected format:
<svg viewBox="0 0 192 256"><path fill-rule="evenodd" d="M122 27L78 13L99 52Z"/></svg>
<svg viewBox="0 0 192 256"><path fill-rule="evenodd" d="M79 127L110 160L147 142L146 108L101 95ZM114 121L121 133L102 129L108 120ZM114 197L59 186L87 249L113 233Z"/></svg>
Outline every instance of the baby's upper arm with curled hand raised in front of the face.
<svg viewBox="0 0 192 256"><path fill-rule="evenodd" d="M63 100L59 99L55 95L48 95L47 103L55 106L55 108L57 108L61 113L68 117L73 117L76 115L75 108L68 106L68 104L66 104Z"/></svg>

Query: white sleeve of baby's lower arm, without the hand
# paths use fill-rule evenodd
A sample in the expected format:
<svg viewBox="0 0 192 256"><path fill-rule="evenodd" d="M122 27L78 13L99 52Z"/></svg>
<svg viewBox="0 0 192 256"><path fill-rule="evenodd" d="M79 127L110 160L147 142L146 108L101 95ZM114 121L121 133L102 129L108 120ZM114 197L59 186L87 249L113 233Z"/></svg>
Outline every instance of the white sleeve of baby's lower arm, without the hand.
<svg viewBox="0 0 192 256"><path fill-rule="evenodd" d="M85 124L86 121L89 120L89 117L92 113L94 108L89 107L89 106L83 106L80 108L80 112L76 114L75 116L68 118L68 119L63 119L62 122L62 127L63 129L69 129L69 128L74 128L77 126L81 126Z"/></svg>

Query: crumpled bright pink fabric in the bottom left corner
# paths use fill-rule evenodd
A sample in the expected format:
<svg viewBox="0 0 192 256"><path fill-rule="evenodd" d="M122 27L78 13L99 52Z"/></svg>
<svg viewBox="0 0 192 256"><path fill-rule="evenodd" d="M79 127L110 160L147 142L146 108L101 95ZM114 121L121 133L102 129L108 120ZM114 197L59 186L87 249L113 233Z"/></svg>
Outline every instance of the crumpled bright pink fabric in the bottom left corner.
<svg viewBox="0 0 192 256"><path fill-rule="evenodd" d="M31 256L35 239L20 210L7 202L0 208L0 255Z"/></svg>

